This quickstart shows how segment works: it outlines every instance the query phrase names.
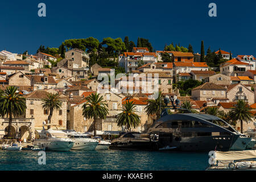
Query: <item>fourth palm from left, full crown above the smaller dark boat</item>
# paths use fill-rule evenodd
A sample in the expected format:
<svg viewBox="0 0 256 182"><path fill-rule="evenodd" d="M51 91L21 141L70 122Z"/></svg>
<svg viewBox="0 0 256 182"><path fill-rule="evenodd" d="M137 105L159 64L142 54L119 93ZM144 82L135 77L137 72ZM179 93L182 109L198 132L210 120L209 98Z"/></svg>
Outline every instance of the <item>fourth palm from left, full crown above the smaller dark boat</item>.
<svg viewBox="0 0 256 182"><path fill-rule="evenodd" d="M141 124L141 119L139 118L138 114L135 114L134 102L130 102L127 100L125 104L123 104L122 113L117 115L117 126L125 126L125 128L130 131L131 127L138 127Z"/></svg>

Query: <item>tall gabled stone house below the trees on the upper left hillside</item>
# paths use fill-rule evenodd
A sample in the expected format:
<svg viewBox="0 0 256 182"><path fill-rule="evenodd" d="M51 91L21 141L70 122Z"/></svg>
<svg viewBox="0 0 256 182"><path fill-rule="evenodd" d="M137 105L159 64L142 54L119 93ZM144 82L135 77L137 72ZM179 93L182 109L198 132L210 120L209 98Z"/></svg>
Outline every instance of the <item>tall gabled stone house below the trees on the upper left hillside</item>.
<svg viewBox="0 0 256 182"><path fill-rule="evenodd" d="M65 52L65 59L72 60L73 68L89 67L89 56L81 49L74 48Z"/></svg>

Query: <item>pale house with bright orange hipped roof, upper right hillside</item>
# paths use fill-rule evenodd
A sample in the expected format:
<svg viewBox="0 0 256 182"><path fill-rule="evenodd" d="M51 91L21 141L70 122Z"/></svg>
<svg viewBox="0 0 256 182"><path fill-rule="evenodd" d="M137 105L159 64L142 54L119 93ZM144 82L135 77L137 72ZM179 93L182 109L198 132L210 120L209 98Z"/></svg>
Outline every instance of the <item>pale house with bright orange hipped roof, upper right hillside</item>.
<svg viewBox="0 0 256 182"><path fill-rule="evenodd" d="M247 70L251 69L251 65L243 63L235 59L226 61L220 65L220 72L226 76L242 76Z"/></svg>

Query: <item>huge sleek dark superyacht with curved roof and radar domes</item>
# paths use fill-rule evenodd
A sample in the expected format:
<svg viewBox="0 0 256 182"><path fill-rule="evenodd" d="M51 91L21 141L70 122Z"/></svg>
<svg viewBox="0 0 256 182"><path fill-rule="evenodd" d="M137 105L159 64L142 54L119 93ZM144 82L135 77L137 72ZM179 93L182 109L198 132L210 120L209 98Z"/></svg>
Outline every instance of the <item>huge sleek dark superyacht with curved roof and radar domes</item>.
<svg viewBox="0 0 256 182"><path fill-rule="evenodd" d="M245 150L251 140L213 115L169 114L168 108L148 129L148 134L159 136L159 148L176 147L176 151Z"/></svg>

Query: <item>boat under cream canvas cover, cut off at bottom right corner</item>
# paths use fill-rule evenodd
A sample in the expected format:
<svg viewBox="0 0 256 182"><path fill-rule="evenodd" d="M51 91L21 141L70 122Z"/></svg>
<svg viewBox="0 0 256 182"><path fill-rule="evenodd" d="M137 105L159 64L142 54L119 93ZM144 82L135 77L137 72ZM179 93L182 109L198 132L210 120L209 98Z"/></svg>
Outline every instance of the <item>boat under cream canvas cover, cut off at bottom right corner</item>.
<svg viewBox="0 0 256 182"><path fill-rule="evenodd" d="M256 171L256 150L210 151L207 171Z"/></svg>

